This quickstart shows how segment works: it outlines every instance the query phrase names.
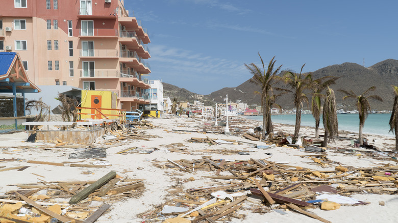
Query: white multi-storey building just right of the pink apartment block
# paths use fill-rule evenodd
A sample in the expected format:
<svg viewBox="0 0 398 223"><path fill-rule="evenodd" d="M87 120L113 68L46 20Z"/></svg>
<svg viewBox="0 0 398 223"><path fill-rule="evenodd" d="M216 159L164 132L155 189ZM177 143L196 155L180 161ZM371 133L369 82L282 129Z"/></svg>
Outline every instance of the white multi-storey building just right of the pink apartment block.
<svg viewBox="0 0 398 223"><path fill-rule="evenodd" d="M163 113L164 98L163 98L162 80L148 80L148 83L151 86L151 88L148 89L148 97L151 102L150 102L150 104L145 104L144 110L158 110L161 113ZM149 109L147 109L147 108L149 108Z"/></svg>

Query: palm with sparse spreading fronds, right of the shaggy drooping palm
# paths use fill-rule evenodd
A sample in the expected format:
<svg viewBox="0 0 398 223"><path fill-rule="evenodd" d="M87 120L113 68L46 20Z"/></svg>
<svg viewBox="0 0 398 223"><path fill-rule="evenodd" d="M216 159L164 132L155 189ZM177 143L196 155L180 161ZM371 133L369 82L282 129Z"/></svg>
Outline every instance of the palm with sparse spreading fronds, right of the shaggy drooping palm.
<svg viewBox="0 0 398 223"><path fill-rule="evenodd" d="M346 91L346 90L339 90L340 92L346 94L346 96L343 97L343 100L346 98L356 98L357 99L357 108L358 108L358 113L359 113L359 143L361 146L363 146L363 136L362 136L362 129L363 126L365 125L365 120L367 118L367 115L372 112L370 109L370 103L368 99L374 99L377 101L383 101L383 99L378 96L378 95L369 95L365 96L371 91L375 91L376 86L370 87L367 89L365 92L363 92L361 95L356 95L353 91Z"/></svg>

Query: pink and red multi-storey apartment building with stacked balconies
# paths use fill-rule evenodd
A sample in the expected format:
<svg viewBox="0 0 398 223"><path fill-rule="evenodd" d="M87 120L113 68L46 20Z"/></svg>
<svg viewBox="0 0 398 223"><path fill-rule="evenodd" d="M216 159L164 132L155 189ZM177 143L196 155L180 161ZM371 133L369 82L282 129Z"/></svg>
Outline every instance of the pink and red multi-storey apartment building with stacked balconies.
<svg viewBox="0 0 398 223"><path fill-rule="evenodd" d="M2 0L0 51L18 52L40 85L117 93L117 108L150 103L146 30L121 0Z"/></svg>

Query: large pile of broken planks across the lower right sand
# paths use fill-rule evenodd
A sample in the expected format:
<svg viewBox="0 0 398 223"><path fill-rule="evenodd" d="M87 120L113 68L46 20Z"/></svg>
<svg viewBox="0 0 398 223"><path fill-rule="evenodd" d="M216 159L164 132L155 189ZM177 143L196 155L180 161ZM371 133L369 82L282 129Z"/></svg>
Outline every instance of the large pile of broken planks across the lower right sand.
<svg viewBox="0 0 398 223"><path fill-rule="evenodd" d="M316 165L334 167L333 170L311 170L265 159L250 160L167 160L153 165L162 169L184 172L213 172L213 186L190 188L170 193L165 204L141 213L142 222L165 219L165 222L215 222L215 220L243 219L236 210L255 213L276 211L286 214L288 209L300 212L322 222L330 222L305 209L335 210L341 205L367 205L350 198L352 193L395 193L398 191L398 165L380 165L373 168L341 166L326 158L326 154L302 155ZM229 175L220 175L228 172ZM194 181L193 177L185 181ZM220 180L226 180L220 184ZM176 188L178 189L178 187ZM380 202L383 205L383 202ZM185 217L185 218L182 218ZM147 219L148 221L145 221ZM186 220L186 221L184 221Z"/></svg>

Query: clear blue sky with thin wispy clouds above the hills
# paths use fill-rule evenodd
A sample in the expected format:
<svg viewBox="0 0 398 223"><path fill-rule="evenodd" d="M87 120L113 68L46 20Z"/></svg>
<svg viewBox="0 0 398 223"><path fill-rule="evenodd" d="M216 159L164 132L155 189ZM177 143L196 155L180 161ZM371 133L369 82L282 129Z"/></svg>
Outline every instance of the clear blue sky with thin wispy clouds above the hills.
<svg viewBox="0 0 398 223"><path fill-rule="evenodd" d="M150 35L149 79L197 94L251 78L244 64L311 72L397 59L398 1L125 0Z"/></svg>

